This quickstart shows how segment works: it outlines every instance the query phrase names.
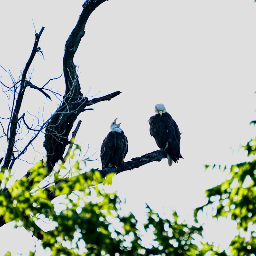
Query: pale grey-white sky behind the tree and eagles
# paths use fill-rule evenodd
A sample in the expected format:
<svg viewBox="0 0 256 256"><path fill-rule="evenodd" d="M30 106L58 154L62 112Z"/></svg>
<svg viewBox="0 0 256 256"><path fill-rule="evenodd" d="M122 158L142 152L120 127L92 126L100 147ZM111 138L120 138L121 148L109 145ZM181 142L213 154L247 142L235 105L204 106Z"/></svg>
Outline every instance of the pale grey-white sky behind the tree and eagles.
<svg viewBox="0 0 256 256"><path fill-rule="evenodd" d="M40 86L60 76L64 44L83 2L2 1L0 64L10 68L14 77L19 76L34 43L33 19L37 32L45 27L39 42L45 60L36 55L31 82ZM76 142L82 142L84 152L89 144L87 156L96 151L92 158L99 157L101 143L115 118L122 122L128 138L126 161L157 150L148 124L156 103L164 103L183 132L184 159L178 164L169 167L164 159L114 178L113 188L126 197L127 209L138 216L147 202L158 211L175 209L182 218L192 221L192 209L205 202L205 189L226 179L226 174L217 170L204 172L203 165L230 165L246 159L243 150L237 151L255 135L249 126L255 119L255 8L253 0L109 0L90 16L75 56L81 90L86 94L91 87L88 95L97 97L122 93L93 105L94 111L80 114L82 124ZM6 84L10 82L3 70L0 75ZM64 92L64 78L50 86ZM4 94L0 102L1 115L6 117ZM30 90L20 115L26 113L27 122L32 122L28 112L37 115L39 107L42 112L44 106L47 119L57 104L57 100L51 102ZM5 143L3 138L0 141ZM36 155L31 148L23 159L41 159L45 153L43 141L41 136L34 144ZM13 167L16 177L24 175L30 166L17 162ZM100 166L100 161L88 163L88 169ZM236 227L234 223L220 220L216 224L216 220L202 216L204 221L206 241L226 247L234 236L230 232ZM225 225L229 225L228 233ZM0 229L4 244L0 252L12 250L16 255L32 250L34 239L28 235L21 242L19 232L22 236L27 232L13 231L11 226L9 223ZM13 248L16 236L17 246ZM36 255L41 253L38 249Z"/></svg>

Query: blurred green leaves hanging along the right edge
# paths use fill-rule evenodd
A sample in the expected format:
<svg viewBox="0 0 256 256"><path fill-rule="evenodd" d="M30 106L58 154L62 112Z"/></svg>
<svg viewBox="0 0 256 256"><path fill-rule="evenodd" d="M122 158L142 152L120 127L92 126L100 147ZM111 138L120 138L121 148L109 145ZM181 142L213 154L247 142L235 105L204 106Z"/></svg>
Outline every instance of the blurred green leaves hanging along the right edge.
<svg viewBox="0 0 256 256"><path fill-rule="evenodd" d="M239 235L229 246L232 256L256 252L256 138L243 148L248 152L248 162L232 165L228 179L206 191L206 205L217 205L215 217L231 215L237 223ZM196 209L195 216L203 207Z"/></svg>

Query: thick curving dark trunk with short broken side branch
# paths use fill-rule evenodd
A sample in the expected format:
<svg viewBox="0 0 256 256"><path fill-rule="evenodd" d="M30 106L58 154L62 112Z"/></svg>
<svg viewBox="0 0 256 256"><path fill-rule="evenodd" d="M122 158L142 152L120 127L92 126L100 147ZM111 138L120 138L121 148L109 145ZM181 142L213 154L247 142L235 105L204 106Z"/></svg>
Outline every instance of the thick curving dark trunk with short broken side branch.
<svg viewBox="0 0 256 256"><path fill-rule="evenodd" d="M66 91L63 97L63 102L47 124L44 140L44 148L47 152L46 163L49 171L52 170L52 167L59 159L63 160L63 154L68 145L68 135L78 115L84 110L87 110L87 106L91 106L102 100L110 100L121 93L114 92L92 100L83 97L78 75L76 73L76 65L73 61L76 50L84 36L85 24L89 16L96 7L105 1L106 0L87 0L83 4L83 11L65 44L63 73L65 77Z"/></svg>

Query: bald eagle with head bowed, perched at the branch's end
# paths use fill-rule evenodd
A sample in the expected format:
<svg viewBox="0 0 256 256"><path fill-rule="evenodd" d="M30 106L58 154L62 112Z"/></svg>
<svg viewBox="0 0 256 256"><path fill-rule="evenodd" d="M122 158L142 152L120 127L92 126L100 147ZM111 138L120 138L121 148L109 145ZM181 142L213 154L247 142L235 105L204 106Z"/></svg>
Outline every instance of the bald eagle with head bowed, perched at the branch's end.
<svg viewBox="0 0 256 256"><path fill-rule="evenodd" d="M150 135L156 140L159 148L167 152L168 164L172 166L172 161L178 163L180 155L180 130L172 116L166 112L164 104L156 104L155 116L149 118ZM168 143L168 145L167 145Z"/></svg>

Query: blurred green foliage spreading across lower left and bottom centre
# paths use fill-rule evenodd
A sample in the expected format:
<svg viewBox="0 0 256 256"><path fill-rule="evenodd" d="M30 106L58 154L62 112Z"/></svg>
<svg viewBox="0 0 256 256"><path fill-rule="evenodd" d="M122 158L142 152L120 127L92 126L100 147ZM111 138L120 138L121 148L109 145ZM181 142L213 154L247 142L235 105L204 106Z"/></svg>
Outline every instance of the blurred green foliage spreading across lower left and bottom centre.
<svg viewBox="0 0 256 256"><path fill-rule="evenodd" d="M116 193L106 193L100 173L83 172L81 164L67 171L62 163L48 176L40 161L8 188L9 172L1 172L0 217L26 228L52 255L204 255L209 249L195 242L202 228L179 223L176 212L172 220L163 219L147 205L148 220L138 223L123 212ZM111 184L112 177L104 182ZM55 228L44 231L43 221Z"/></svg>

